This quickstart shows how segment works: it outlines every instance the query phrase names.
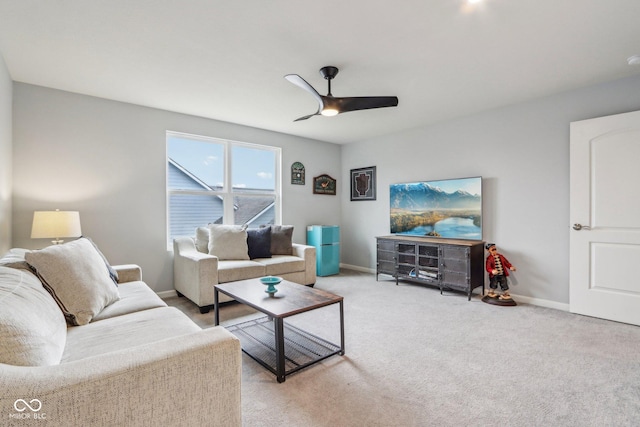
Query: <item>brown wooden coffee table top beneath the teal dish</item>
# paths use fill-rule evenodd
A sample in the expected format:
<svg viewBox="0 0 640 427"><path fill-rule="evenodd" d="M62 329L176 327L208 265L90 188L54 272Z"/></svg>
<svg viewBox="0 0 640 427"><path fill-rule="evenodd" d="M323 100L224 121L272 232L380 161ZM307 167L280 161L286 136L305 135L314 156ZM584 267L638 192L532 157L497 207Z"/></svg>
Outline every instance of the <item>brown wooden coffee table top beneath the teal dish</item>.
<svg viewBox="0 0 640 427"><path fill-rule="evenodd" d="M222 283L215 288L238 302L246 304L271 317L288 317L294 314L324 307L342 301L331 292L283 280L276 285L276 292L269 296L260 279Z"/></svg>

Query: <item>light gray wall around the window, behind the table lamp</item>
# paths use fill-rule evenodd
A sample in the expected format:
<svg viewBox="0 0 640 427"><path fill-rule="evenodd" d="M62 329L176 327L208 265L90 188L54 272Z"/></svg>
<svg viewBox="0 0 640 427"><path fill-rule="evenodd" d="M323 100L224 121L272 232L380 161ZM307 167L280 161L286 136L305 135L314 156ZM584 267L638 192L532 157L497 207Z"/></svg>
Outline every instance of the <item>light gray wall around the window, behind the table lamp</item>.
<svg viewBox="0 0 640 427"><path fill-rule="evenodd" d="M112 264L142 266L156 291L173 289L166 249L165 132L167 130L282 147L283 223L294 241L306 226L340 220L340 199L314 195L312 177L340 177L340 146L15 83L13 246L30 239L34 210L78 210L82 231ZM291 164L306 166L305 186L291 185Z"/></svg>

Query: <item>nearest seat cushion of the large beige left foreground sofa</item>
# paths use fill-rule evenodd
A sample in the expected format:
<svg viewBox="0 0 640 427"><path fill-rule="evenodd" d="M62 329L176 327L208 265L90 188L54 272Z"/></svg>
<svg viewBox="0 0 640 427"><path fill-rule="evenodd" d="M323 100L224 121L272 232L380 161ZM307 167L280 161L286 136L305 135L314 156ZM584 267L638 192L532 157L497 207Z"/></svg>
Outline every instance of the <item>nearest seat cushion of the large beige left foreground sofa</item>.
<svg viewBox="0 0 640 427"><path fill-rule="evenodd" d="M134 347L202 330L175 307L160 307L69 328L61 363Z"/></svg>

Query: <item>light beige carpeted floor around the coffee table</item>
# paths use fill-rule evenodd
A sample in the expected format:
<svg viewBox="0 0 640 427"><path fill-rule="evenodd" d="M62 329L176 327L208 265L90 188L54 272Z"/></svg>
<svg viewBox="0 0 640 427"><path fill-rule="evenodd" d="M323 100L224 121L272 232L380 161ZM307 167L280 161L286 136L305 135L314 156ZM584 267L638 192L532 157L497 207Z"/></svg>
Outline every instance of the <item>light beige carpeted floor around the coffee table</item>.
<svg viewBox="0 0 640 427"><path fill-rule="evenodd" d="M640 425L639 327L348 270L316 287L345 298L346 355L282 384L243 355L245 426ZM221 321L252 315L231 304ZM337 306L295 323L339 342Z"/></svg>

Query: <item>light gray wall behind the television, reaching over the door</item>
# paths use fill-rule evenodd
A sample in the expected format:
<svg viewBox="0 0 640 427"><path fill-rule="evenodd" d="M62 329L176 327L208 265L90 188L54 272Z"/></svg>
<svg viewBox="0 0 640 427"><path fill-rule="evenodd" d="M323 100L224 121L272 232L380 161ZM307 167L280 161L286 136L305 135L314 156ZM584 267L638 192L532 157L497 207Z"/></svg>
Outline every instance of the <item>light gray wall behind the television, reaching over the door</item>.
<svg viewBox="0 0 640 427"><path fill-rule="evenodd" d="M345 145L342 176L377 166L378 193L351 202L342 181L342 262L375 269L389 184L482 176L484 239L518 268L512 292L568 303L569 123L638 109L640 76Z"/></svg>

